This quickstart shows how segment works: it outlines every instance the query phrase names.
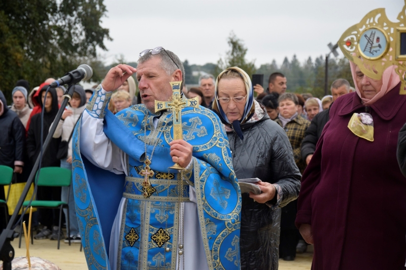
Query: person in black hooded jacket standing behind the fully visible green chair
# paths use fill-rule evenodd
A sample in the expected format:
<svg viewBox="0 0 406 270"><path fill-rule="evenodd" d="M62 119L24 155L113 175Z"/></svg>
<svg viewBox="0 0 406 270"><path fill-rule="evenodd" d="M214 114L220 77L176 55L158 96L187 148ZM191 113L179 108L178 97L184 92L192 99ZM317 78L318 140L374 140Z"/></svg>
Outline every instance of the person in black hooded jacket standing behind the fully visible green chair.
<svg viewBox="0 0 406 270"><path fill-rule="evenodd" d="M45 93L48 85L45 85L38 91L39 105L42 107ZM49 128L54 121L56 114L58 113L58 96L56 94L55 88L50 88L45 100L45 111L44 111L44 126L43 126L43 143L49 133ZM28 158L31 160L32 164L35 163L41 152L41 115L42 113L37 113L32 116L31 123L28 129L27 135L27 154ZM56 153L59 148L60 138L51 139L48 149L44 151L41 168L43 167L59 167L60 161L56 158ZM39 186L37 190L38 200L53 200L60 201L60 187L49 187L49 186ZM58 239L58 226L53 226L58 224L58 214L54 209L39 209L39 221L44 225L43 230L35 236L35 239L46 239L51 237L53 240ZM51 230L56 232L56 235L51 236Z"/></svg>

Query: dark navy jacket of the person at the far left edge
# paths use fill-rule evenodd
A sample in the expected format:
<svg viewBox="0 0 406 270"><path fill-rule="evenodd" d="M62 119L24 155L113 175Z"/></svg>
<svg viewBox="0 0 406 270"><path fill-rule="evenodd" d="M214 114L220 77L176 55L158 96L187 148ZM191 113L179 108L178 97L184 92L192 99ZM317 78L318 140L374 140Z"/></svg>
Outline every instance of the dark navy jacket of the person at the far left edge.
<svg viewBox="0 0 406 270"><path fill-rule="evenodd" d="M7 107L6 98L0 91L3 114L0 115L0 165L14 168L15 161L24 161L25 129L17 113Z"/></svg>

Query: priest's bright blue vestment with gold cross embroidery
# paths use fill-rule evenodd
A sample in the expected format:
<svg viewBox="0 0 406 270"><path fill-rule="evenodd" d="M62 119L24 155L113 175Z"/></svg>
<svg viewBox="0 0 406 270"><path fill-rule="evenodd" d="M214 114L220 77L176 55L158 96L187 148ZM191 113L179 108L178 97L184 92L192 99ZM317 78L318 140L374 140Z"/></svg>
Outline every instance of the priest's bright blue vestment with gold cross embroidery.
<svg viewBox="0 0 406 270"><path fill-rule="evenodd" d="M155 129L153 118L157 115L144 105L131 106L116 115L103 112L103 107L101 114L97 95L107 104L109 97L96 89L87 110L92 115L93 109L94 117L104 117L105 134L127 154L127 176L97 168L80 154L79 122L73 136L73 184L89 269L110 269L110 234L122 198L126 202L117 268L175 269L181 232L179 201L189 202L190 186L196 194L209 269L240 269L241 192L227 136L217 115L203 107L182 110L183 137L193 145L193 163L181 179L177 170L168 169L173 165L168 145L173 140L172 113L163 112ZM153 189L148 198L143 196L144 177L140 174L144 168L145 140L150 144L148 157L156 144L150 165L154 171L150 177Z"/></svg>

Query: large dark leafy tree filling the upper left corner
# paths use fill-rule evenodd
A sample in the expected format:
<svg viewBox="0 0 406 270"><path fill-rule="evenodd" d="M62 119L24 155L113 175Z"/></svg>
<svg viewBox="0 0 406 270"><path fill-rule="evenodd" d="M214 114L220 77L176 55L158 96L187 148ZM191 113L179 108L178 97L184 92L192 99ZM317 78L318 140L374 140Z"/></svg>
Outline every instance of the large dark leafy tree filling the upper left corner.
<svg viewBox="0 0 406 270"><path fill-rule="evenodd" d="M62 76L106 50L109 30L100 26L103 0L14 0L0 2L0 81L6 97L17 80L30 86ZM94 72L93 79L104 74Z"/></svg>

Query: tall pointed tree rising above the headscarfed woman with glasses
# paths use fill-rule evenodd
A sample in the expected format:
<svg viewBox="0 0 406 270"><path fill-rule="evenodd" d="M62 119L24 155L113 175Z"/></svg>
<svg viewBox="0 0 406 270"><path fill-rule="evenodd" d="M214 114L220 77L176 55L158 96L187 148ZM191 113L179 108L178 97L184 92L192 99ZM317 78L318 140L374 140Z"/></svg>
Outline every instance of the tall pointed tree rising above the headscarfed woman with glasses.
<svg viewBox="0 0 406 270"><path fill-rule="evenodd" d="M255 61L249 62L245 59L248 49L245 47L244 42L238 38L234 32L231 31L227 38L230 50L227 51L224 59L220 58L217 62L217 74L227 67L238 66L243 69L251 77L255 73Z"/></svg>

